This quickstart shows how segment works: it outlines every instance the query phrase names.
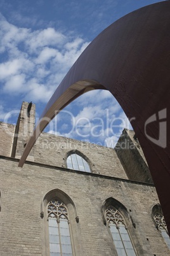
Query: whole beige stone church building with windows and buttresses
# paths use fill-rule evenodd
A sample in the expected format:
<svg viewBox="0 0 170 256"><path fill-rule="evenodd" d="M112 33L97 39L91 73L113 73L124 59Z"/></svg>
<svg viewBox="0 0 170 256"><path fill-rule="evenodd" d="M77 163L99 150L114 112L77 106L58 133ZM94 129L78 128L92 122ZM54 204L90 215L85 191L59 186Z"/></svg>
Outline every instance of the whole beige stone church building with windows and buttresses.
<svg viewBox="0 0 170 256"><path fill-rule="evenodd" d="M20 168L18 160L35 124L36 106L29 115L28 105L23 102L16 125L0 123L0 255L110 256L121 250L129 256L170 255L166 224L159 225L157 192L134 132L124 129L115 149L42 132ZM85 171L74 168L76 157ZM50 202L63 203L62 217L56 217ZM117 225L114 217L108 218L116 210L123 219ZM57 229L49 228L51 219L58 235L51 233ZM63 220L69 223L67 235L62 234ZM129 240L121 234L122 226Z"/></svg>

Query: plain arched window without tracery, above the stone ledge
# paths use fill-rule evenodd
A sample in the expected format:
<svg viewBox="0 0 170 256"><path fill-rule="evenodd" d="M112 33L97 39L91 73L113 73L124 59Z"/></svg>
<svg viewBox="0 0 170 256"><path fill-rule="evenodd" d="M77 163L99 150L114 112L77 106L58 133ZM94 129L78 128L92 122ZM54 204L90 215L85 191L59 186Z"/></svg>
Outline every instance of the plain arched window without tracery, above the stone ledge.
<svg viewBox="0 0 170 256"><path fill-rule="evenodd" d="M88 162L86 162L86 160L77 153L72 153L67 157L67 167L78 171L91 172Z"/></svg>

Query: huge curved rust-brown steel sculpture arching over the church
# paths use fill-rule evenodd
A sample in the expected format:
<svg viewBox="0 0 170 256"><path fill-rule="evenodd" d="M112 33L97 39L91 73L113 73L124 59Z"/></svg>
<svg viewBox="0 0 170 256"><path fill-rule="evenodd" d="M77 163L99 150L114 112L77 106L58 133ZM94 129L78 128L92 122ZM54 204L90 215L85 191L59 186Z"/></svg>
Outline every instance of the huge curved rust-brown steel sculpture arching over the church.
<svg viewBox="0 0 170 256"><path fill-rule="evenodd" d="M133 11L84 50L49 100L20 159L58 111L89 90L109 90L131 120L170 233L170 2ZM160 120L159 120L160 119ZM159 122L160 121L160 122Z"/></svg>

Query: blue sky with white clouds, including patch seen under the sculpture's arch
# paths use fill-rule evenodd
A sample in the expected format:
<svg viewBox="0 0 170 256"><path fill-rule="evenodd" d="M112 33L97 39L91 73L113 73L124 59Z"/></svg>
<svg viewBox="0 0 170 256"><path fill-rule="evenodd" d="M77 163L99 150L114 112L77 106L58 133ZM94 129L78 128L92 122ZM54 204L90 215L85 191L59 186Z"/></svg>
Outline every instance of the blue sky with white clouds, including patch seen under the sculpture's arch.
<svg viewBox="0 0 170 256"><path fill-rule="evenodd" d="M103 29L154 0L1 0L0 120L15 124L22 101L39 118L56 87ZM94 103L95 99L95 103ZM47 132L114 146L131 128L107 91L88 92L65 108Z"/></svg>

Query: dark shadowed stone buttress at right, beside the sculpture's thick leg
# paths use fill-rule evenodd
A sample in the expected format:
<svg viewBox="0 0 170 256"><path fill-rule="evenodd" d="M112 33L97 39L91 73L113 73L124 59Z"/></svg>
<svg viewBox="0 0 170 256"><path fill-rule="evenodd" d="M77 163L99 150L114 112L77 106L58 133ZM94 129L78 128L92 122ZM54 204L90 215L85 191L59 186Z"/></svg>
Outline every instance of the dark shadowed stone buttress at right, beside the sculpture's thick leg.
<svg viewBox="0 0 170 256"><path fill-rule="evenodd" d="M141 146L138 139L134 138L133 131L124 129L115 146L117 156L121 160L129 180L153 183Z"/></svg>

